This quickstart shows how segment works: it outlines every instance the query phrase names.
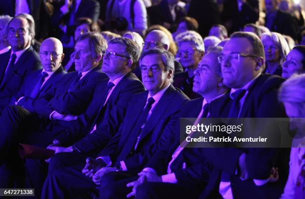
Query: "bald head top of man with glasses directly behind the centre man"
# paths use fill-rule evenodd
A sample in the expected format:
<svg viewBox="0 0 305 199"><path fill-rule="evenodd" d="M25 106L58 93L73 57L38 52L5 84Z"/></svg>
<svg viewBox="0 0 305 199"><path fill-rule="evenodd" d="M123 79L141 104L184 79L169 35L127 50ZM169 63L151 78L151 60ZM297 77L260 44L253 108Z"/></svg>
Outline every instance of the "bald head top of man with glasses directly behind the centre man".
<svg viewBox="0 0 305 199"><path fill-rule="evenodd" d="M144 49L151 49L154 47L163 47L165 50L169 48L169 39L165 32L161 30L152 30L145 37Z"/></svg>

